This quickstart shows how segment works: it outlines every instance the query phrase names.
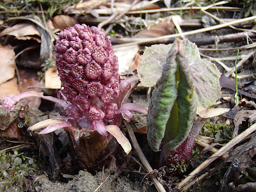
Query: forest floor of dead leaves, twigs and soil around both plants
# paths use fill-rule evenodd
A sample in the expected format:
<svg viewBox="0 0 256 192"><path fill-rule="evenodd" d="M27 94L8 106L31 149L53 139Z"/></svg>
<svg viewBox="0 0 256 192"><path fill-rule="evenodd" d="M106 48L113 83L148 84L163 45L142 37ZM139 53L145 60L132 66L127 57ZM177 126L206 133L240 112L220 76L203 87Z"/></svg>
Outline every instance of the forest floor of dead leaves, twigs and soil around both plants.
<svg viewBox="0 0 256 192"><path fill-rule="evenodd" d="M28 125L59 112L52 102L37 98L28 108L17 108L12 124L0 130L1 191L157 191L152 177L166 191L256 191L256 4L164 2L0 3L0 99L30 90L56 97L60 82L52 45L61 29L76 23L105 31L118 56L121 79L136 74L146 46L188 38L198 46L201 58L212 61L221 72L221 97L212 108L230 111L207 119L186 170L177 177L166 175L163 168L148 173L134 146L129 156L118 148L111 162L96 172L70 164L71 157L63 152L70 148L61 145L57 136L42 138L27 131ZM148 108L151 92L138 84L129 99ZM0 109L0 125L7 125L10 119L4 119ZM133 115L129 125L155 168L145 132L147 115ZM129 137L127 125L122 128ZM212 154L217 154L212 157L215 161L209 158Z"/></svg>

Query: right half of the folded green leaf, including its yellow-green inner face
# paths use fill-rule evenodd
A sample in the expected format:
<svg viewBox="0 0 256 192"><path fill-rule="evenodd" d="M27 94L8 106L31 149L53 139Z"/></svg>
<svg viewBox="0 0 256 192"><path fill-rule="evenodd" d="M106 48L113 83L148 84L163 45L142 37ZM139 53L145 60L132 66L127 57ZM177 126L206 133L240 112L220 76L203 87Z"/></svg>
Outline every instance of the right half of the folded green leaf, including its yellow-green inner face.
<svg viewBox="0 0 256 192"><path fill-rule="evenodd" d="M188 67L189 62L186 60L185 52L182 52L184 44L179 40L177 42L179 42L179 53L177 54L179 72L176 76L179 76L179 84L176 99L177 110L175 110L176 115L174 116L178 116L177 121L179 123L175 124L176 127L173 127L173 123L170 121L166 124L164 145L168 150L175 150L186 140L196 115L194 85L191 71Z"/></svg>

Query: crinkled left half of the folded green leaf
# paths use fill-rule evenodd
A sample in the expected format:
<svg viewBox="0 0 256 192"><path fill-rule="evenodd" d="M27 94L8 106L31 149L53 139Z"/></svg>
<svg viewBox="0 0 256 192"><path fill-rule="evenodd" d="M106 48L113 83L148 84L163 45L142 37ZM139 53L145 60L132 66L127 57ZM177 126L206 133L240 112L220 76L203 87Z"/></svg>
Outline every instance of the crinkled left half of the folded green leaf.
<svg viewBox="0 0 256 192"><path fill-rule="evenodd" d="M170 112L177 97L177 88L175 88L175 72L177 71L175 58L177 52L177 49L171 49L168 54L163 74L156 83L156 88L152 92L151 102L148 106L147 140L154 151L158 151L160 148L166 122L170 118Z"/></svg>

